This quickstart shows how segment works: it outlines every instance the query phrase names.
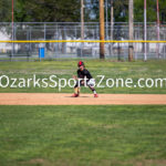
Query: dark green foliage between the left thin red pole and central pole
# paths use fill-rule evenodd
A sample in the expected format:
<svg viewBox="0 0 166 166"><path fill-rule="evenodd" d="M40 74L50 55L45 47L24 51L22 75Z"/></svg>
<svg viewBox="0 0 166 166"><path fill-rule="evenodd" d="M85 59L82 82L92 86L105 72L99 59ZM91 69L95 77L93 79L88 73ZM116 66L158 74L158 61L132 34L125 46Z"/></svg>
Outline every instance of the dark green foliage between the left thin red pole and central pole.
<svg viewBox="0 0 166 166"><path fill-rule="evenodd" d="M80 21L77 0L18 0L15 8L15 20L20 22Z"/></svg>

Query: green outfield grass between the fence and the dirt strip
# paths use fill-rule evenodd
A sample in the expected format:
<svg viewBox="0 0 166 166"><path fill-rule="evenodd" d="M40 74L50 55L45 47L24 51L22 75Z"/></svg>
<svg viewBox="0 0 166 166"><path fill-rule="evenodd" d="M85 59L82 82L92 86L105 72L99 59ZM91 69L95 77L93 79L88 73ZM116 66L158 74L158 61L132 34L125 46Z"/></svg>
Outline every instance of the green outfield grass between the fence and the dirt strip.
<svg viewBox="0 0 166 166"><path fill-rule="evenodd" d="M110 60L84 60L86 68L92 75L105 75L105 79L127 79L132 77L134 84L139 77L164 79L166 75L166 61L148 61L148 62L113 62ZM42 61L42 62L0 62L0 75L6 74L9 77L32 77L37 74L38 79L49 77L54 74L59 79L71 79L76 74L77 60L59 60L59 61ZM98 81L98 80L97 80ZM3 81L4 82L4 81ZM31 84L32 85L32 84ZM42 89L42 87L23 87L23 89L1 89L2 92L27 92L27 93L58 93L58 89ZM73 90L69 86L62 89L62 93L72 93ZM83 93L90 93L89 89L82 89ZM98 93L155 93L166 94L166 86L164 87L104 87L97 89Z"/></svg>

